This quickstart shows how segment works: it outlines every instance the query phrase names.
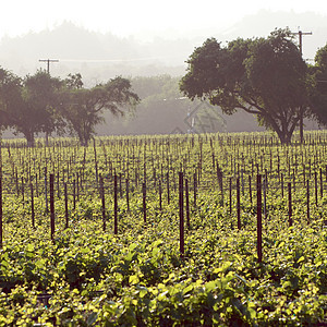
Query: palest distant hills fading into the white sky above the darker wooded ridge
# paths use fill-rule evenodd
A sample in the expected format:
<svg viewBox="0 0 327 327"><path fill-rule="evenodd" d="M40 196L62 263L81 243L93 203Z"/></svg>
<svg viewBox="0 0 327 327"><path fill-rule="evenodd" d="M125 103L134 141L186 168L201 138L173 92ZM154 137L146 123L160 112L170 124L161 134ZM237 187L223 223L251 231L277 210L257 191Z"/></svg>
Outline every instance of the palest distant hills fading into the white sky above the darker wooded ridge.
<svg viewBox="0 0 327 327"><path fill-rule="evenodd" d="M182 75L185 60L194 47L208 37L219 41L237 37L267 36L275 28L290 27L291 31L312 32L303 39L303 56L312 60L318 48L325 46L327 35L326 16L316 13L271 12L262 10L244 16L223 28L204 28L192 33L172 29L165 34L131 35L118 37L110 32L102 34L64 22L38 33L17 37L3 37L0 41L0 62L19 75L34 73L45 68L39 59L59 59L51 65L51 74L65 76L81 72L86 84L93 84L119 75L138 76L171 74Z"/></svg>

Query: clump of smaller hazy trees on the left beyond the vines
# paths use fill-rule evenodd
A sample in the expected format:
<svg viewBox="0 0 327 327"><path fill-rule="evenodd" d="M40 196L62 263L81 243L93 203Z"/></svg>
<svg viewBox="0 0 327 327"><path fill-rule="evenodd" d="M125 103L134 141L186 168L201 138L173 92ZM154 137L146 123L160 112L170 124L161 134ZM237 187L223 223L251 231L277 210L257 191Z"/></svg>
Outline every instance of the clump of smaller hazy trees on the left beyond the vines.
<svg viewBox="0 0 327 327"><path fill-rule="evenodd" d="M28 146L38 133L76 135L87 145L102 111L123 114L140 101L131 82L116 77L93 88L84 88L81 74L65 80L45 71L21 78L0 68L0 129L22 133Z"/></svg>

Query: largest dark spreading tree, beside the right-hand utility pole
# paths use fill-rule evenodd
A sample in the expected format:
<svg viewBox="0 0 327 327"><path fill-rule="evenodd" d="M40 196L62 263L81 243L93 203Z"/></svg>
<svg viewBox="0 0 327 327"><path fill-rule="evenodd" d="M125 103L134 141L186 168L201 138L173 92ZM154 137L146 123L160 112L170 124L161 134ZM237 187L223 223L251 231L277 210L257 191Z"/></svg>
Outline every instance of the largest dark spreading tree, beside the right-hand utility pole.
<svg viewBox="0 0 327 327"><path fill-rule="evenodd" d="M291 141L301 114L310 114L307 66L288 29L226 47L207 39L187 63L180 88L189 98L208 98L229 114L237 109L256 114L281 143Z"/></svg>

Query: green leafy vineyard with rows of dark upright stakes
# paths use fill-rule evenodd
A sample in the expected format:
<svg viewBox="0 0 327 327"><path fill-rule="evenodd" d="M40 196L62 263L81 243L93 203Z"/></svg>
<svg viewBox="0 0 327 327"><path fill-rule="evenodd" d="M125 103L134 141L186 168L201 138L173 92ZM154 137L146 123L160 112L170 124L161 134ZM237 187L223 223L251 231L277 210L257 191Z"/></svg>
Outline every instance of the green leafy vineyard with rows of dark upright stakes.
<svg viewBox="0 0 327 327"><path fill-rule="evenodd" d="M1 143L0 326L327 326L327 133Z"/></svg>

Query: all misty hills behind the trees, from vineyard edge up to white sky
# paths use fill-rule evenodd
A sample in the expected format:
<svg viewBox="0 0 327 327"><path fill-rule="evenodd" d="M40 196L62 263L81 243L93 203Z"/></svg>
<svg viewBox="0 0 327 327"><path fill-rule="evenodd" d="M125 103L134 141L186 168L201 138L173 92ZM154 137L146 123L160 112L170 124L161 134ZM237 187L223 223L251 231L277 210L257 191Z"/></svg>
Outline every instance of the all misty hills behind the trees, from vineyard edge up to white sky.
<svg viewBox="0 0 327 327"><path fill-rule="evenodd" d="M130 78L142 98L141 105L124 118L106 113L106 122L96 130L98 135L186 133L190 125L196 132L263 131L251 114L226 116L219 108L184 99L178 90L178 82L185 74L185 61L194 48L207 38L215 37L223 44L238 37L266 37L275 28L284 27L294 33L312 32L303 36L303 58L314 63L316 51L327 43L326 16L261 10L225 29L204 28L187 34L167 29L160 34L119 37L64 22L38 33L2 37L0 65L24 77L47 68L40 59L56 59L59 62L50 64L52 76L64 78L70 73L81 73L86 87L117 75ZM305 125L307 130L318 129L311 121ZM7 131L4 136L12 134Z"/></svg>

